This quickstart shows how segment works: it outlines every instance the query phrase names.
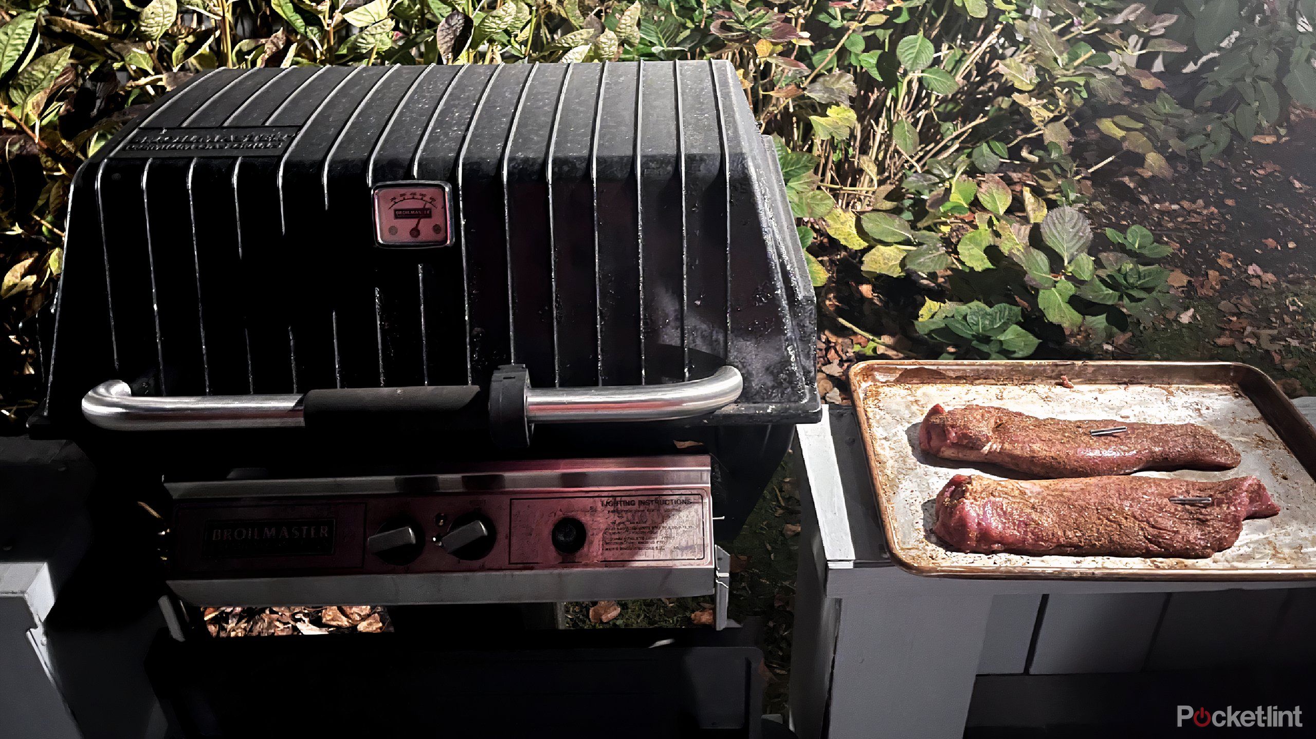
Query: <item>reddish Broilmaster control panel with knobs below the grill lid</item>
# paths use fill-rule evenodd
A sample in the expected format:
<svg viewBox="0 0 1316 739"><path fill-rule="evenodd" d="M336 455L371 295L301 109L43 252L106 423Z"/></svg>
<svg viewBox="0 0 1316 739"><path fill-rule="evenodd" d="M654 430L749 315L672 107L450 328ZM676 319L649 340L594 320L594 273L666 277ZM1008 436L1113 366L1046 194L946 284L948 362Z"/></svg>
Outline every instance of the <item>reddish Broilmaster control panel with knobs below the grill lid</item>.
<svg viewBox="0 0 1316 739"><path fill-rule="evenodd" d="M515 462L405 477L191 483L171 493L175 577L713 561L708 458L697 455Z"/></svg>

